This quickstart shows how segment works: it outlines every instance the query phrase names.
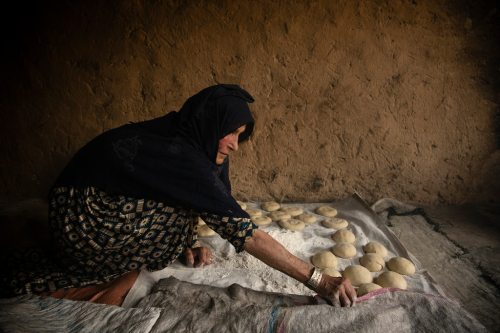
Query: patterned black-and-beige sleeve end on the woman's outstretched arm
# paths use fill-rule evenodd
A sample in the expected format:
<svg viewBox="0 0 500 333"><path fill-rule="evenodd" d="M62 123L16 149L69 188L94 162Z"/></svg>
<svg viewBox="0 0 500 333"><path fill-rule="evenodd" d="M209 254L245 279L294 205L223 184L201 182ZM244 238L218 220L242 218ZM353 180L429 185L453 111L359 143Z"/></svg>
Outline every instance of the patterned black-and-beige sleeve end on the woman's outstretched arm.
<svg viewBox="0 0 500 333"><path fill-rule="evenodd" d="M236 252L243 251L246 240L253 236L254 230L258 229L249 218L226 217L209 213L201 213L200 217L210 229L229 241Z"/></svg>

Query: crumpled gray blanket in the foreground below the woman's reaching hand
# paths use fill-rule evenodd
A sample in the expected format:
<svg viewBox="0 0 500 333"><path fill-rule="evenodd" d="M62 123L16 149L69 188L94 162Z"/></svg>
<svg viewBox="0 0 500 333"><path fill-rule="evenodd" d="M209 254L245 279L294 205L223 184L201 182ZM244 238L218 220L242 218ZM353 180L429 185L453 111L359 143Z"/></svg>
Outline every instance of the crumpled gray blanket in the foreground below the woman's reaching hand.
<svg viewBox="0 0 500 333"><path fill-rule="evenodd" d="M308 296L161 280L139 307L161 308L152 332L484 332L458 304L388 291L336 308Z"/></svg>

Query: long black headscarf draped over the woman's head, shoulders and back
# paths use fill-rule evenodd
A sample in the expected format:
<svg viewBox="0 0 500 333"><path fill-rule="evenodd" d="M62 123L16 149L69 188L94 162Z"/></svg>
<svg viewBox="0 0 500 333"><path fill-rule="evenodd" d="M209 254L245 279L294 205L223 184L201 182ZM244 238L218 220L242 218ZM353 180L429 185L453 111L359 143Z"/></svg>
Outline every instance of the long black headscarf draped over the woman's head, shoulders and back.
<svg viewBox="0 0 500 333"><path fill-rule="evenodd" d="M128 124L76 153L57 186L95 186L110 194L165 201L198 212L248 217L231 196L229 160L216 165L219 140L242 125L248 139L252 96L237 85L208 87L178 112Z"/></svg>

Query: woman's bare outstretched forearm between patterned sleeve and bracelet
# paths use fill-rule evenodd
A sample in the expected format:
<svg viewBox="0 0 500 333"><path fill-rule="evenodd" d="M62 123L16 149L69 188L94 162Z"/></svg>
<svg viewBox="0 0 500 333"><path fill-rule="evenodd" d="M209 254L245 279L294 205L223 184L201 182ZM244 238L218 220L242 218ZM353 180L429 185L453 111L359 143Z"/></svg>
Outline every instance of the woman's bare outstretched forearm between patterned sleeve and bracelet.
<svg viewBox="0 0 500 333"><path fill-rule="evenodd" d="M245 251L302 283L307 282L312 275L312 265L291 254L283 245L261 230L256 230L245 242Z"/></svg>

